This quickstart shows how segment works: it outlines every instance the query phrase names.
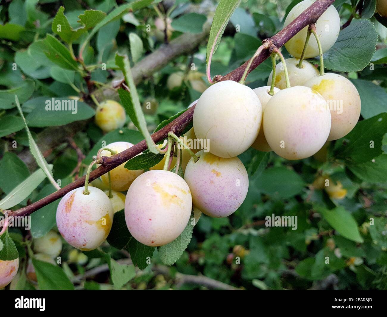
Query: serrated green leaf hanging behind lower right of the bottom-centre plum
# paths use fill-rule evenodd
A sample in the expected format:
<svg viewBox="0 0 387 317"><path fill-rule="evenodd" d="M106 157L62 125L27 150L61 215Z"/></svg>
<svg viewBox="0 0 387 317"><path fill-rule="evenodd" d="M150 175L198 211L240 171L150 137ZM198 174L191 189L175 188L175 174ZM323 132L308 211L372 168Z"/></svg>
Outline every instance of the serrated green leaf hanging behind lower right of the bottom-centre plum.
<svg viewBox="0 0 387 317"><path fill-rule="evenodd" d="M192 213L190 219L188 220L187 226L180 236L178 236L172 242L157 248L159 251L160 259L164 264L175 264L175 262L183 254L184 250L188 247L188 244L192 238L192 231L194 229L194 226L191 224L191 218L193 217L194 214Z"/></svg>

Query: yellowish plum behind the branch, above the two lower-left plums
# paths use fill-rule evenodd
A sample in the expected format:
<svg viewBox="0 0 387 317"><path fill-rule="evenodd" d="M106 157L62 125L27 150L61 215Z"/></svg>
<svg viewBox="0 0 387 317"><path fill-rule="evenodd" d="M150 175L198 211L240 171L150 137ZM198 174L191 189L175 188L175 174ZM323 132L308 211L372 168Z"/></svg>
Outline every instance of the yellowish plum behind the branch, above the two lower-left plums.
<svg viewBox="0 0 387 317"><path fill-rule="evenodd" d="M120 141L120 142L110 143L106 147L108 149L116 151L116 153L120 153L132 146L133 146L132 143ZM103 150L101 152L101 157L102 156L111 156L111 153L108 150ZM111 188L113 190L116 190L117 192L124 192L125 190L128 190L130 184L132 184L135 178L140 174L144 173L144 170L131 171L126 169L124 167L125 163L122 163L121 165L117 166L116 168L110 171ZM108 174L106 173L102 175L101 180L106 185L108 185L109 184Z"/></svg>

